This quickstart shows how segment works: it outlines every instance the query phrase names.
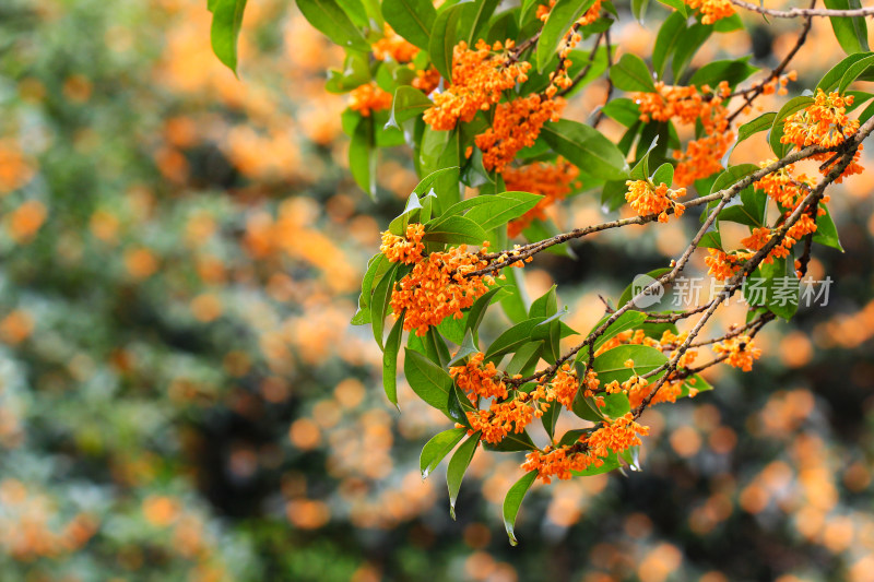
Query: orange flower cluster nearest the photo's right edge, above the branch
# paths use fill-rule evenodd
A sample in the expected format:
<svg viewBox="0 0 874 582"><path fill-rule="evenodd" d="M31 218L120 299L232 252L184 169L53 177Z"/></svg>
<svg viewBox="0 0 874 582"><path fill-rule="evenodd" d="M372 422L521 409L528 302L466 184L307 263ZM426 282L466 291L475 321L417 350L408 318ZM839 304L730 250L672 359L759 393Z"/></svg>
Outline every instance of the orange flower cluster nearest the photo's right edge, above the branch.
<svg viewBox="0 0 874 582"><path fill-rule="evenodd" d="M859 120L847 117L847 106L852 105L855 98L852 95L841 96L839 93L826 93L816 90L813 105L789 116L783 122L783 135L780 143L792 144L799 150L808 145L834 147L847 141L847 138L859 130ZM846 176L861 174L864 168L859 164L862 145L855 151L852 162L835 180L840 183ZM828 152L812 156L818 162L828 162L832 155ZM838 159L822 168L827 175Z"/></svg>

